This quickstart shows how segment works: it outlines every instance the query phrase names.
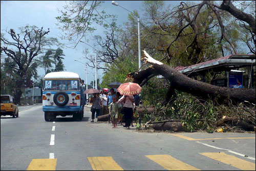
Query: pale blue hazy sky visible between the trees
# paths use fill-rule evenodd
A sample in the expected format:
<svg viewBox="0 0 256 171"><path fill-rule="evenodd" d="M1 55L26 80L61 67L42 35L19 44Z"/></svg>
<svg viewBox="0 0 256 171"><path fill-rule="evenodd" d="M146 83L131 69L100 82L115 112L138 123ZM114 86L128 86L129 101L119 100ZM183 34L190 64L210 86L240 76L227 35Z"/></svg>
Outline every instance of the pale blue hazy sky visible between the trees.
<svg viewBox="0 0 256 171"><path fill-rule="evenodd" d="M115 14L117 17L117 24L122 25L127 22L128 11L124 10L119 6L114 6L111 4L112 1L105 1L103 5L97 11L104 10L106 14ZM120 6L126 8L127 10L133 11L137 10L141 16L142 13L142 1L116 1ZM67 2L68 3L68 2ZM178 5L180 1L166 1L167 4ZM19 32L19 27L24 27L26 25L37 26L38 28L44 27L44 30L50 28L50 33L48 37L56 37L60 42L68 44L68 40L61 40L60 35L62 33L56 26L57 20L55 17L61 16L58 9L63 9L62 7L66 5L66 1L1 1L1 32L3 30L14 29ZM102 32L102 28L97 28L97 33ZM6 34L7 35L7 34ZM93 45L92 45L93 46ZM63 59L63 64L65 65L66 71L77 73L81 79L86 80L86 71L84 70L86 66L83 63L89 62L84 59L85 54L83 54L83 49L93 49L90 46L83 44L82 42L78 44L76 49L72 48L61 48L63 53L66 55ZM75 61L77 59L83 63ZM93 79L93 74L95 73L95 68L88 68L88 84ZM45 72L43 69L38 69L38 74L44 76ZM97 78L102 81L103 76L102 70L97 70Z"/></svg>

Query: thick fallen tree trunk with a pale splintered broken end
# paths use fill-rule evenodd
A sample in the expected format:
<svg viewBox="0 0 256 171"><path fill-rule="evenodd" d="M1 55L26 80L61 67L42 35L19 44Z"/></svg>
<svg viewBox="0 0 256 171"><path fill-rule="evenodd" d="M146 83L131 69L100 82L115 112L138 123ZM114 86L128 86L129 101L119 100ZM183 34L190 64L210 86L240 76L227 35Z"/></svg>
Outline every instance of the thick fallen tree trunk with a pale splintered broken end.
<svg viewBox="0 0 256 171"><path fill-rule="evenodd" d="M173 89L187 92L203 99L219 97L220 102L223 102L225 99L231 99L235 102L249 101L250 103L256 103L255 89L233 89L197 81L153 59L146 51L144 51L144 54L142 59L152 66L141 72L128 74L126 80L142 84L145 83L144 80L150 79L152 75L162 75L170 81L170 86Z"/></svg>

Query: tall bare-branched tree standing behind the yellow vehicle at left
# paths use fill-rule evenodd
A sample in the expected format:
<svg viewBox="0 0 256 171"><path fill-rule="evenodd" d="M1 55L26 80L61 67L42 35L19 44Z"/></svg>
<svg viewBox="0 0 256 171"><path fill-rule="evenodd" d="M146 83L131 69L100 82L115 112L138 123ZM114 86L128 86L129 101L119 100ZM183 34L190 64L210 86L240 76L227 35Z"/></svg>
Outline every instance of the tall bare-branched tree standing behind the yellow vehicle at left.
<svg viewBox="0 0 256 171"><path fill-rule="evenodd" d="M1 58L3 56L3 58L9 58L15 62L15 66L11 67L15 74L15 98L19 103L24 78L30 70L34 70L38 66L36 57L44 53L44 48L53 45L57 40L46 38L46 35L50 32L49 29L44 31L43 28L38 29L35 26L20 28L19 34L16 34L13 29L6 32L11 36L11 40L1 33L1 52L4 53L1 54ZM5 65L9 65L9 63L5 63Z"/></svg>

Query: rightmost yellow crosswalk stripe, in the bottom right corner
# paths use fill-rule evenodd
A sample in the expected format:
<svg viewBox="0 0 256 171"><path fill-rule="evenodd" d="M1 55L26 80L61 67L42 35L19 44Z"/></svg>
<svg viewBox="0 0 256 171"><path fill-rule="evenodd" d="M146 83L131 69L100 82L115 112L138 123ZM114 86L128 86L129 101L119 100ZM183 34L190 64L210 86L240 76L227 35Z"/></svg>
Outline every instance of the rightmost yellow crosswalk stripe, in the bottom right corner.
<svg viewBox="0 0 256 171"><path fill-rule="evenodd" d="M239 159L237 157L227 155L223 152L221 153L199 153L206 157L209 157L214 160L218 160L222 163L237 167L242 170L255 170L255 163L248 162L246 160Z"/></svg>

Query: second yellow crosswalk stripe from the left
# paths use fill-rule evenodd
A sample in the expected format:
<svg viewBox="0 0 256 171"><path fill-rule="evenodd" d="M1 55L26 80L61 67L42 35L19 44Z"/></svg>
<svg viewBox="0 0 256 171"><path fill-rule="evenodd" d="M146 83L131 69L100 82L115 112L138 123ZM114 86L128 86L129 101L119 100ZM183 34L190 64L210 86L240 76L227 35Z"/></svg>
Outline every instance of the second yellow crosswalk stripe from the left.
<svg viewBox="0 0 256 171"><path fill-rule="evenodd" d="M112 157L88 157L93 170L123 170Z"/></svg>

